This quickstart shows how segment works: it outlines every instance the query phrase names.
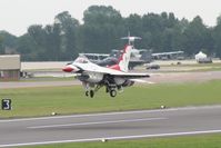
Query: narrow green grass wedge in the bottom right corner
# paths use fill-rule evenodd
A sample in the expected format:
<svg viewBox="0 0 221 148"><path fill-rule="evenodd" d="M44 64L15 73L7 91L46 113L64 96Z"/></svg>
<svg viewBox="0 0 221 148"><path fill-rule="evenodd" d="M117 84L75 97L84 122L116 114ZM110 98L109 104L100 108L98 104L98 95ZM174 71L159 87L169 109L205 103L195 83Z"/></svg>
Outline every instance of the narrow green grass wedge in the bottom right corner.
<svg viewBox="0 0 221 148"><path fill-rule="evenodd" d="M221 134L149 138L138 140L114 140L108 142L72 142L26 148L220 148Z"/></svg>

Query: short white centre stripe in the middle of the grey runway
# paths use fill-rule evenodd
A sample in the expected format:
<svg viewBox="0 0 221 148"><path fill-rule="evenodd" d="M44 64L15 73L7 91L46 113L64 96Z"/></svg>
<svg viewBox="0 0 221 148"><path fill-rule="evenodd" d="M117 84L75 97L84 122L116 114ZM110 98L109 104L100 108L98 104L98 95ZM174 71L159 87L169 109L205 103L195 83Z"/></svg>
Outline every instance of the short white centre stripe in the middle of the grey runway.
<svg viewBox="0 0 221 148"><path fill-rule="evenodd" d="M27 127L27 128L43 129L43 128L56 128L56 127L74 127L74 126L120 124L120 122L153 121L153 120L163 120L163 119L168 119L168 118L142 118L142 119L112 120L112 121L77 122L77 124L66 124L66 125L34 126L34 127Z"/></svg>

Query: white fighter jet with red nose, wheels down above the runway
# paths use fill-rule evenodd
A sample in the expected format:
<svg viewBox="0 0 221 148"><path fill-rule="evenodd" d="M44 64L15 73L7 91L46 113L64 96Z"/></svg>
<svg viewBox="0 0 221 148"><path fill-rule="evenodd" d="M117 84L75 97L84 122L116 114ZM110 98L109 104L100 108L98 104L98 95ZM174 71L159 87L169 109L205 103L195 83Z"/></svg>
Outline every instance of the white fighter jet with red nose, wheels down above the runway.
<svg viewBox="0 0 221 148"><path fill-rule="evenodd" d="M91 98L101 87L106 87L106 91L111 97L117 96L117 91L122 91L124 87L132 86L138 78L150 77L147 73L130 73L128 72L128 65L133 46L125 46L123 53L119 58L117 65L110 67L101 67L92 63L86 57L77 58L72 63L63 68L66 72L77 75L77 78L82 81L86 89L86 96Z"/></svg>

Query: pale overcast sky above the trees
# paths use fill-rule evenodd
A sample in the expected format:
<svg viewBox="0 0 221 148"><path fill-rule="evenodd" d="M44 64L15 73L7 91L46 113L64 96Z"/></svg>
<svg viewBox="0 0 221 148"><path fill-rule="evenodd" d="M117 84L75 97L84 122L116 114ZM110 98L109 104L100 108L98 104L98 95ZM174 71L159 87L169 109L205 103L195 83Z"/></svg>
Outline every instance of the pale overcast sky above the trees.
<svg viewBox="0 0 221 148"><path fill-rule="evenodd" d="M82 22L83 11L93 4L112 6L123 17L167 11L191 21L200 16L207 26L214 26L221 14L220 0L0 0L0 30L20 36L31 24L53 23L62 11Z"/></svg>

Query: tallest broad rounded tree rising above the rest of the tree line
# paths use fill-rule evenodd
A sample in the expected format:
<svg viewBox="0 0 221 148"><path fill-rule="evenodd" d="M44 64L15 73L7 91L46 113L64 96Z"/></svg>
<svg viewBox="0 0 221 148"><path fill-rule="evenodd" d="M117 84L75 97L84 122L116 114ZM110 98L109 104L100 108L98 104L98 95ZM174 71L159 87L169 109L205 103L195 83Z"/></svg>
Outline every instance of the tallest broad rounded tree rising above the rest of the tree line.
<svg viewBox="0 0 221 148"><path fill-rule="evenodd" d="M87 52L110 52L124 36L122 17L112 7L89 7L83 13L82 47Z"/></svg>

